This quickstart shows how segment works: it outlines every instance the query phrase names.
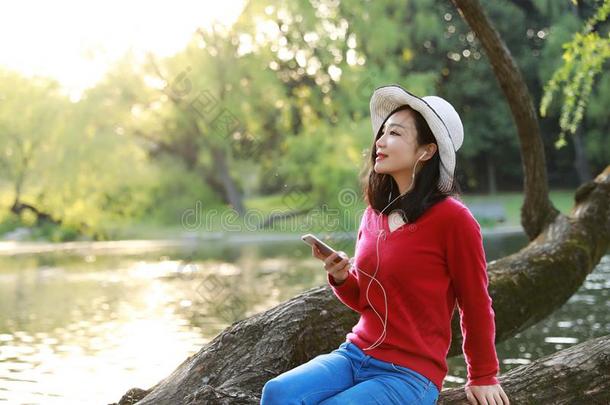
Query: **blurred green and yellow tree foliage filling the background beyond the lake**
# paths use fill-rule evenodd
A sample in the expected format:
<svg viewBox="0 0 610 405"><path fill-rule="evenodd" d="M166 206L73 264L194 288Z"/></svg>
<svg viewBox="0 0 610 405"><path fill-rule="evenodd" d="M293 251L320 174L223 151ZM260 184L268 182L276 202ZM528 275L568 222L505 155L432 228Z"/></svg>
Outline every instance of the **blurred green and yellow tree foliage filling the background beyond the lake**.
<svg viewBox="0 0 610 405"><path fill-rule="evenodd" d="M583 122L593 170L603 167L608 39L591 26L607 18L610 0L586 22L569 2L535 0L525 5L533 13L525 3L484 6L533 99L542 100L543 140L558 122L571 132ZM246 198L261 199L248 207L276 207L296 188L312 205L345 208L342 192L361 197L358 177L372 146L369 98L389 83L456 106L465 129L458 174L467 188L484 189L490 168L499 183L521 183L512 115L481 44L450 2L254 0L231 30L202 28L171 57L141 63L126 55L78 102L53 81L2 71L0 204L7 211L19 193L61 219L62 227L36 231L53 240L77 229L179 229L197 203L222 206L227 170ZM560 89L565 102L553 109ZM222 113L227 125L218 125ZM547 153L573 172L566 151ZM31 214L7 217L0 231L35 222Z"/></svg>

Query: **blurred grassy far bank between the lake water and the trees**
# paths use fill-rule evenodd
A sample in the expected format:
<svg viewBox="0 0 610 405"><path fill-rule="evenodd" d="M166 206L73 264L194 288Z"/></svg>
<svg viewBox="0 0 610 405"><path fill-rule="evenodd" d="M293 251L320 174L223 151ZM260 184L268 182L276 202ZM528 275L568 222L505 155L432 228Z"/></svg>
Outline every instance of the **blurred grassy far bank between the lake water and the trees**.
<svg viewBox="0 0 610 405"><path fill-rule="evenodd" d="M573 194L573 190L553 190L550 192L550 198L562 213L569 214L573 206ZM494 235L522 231L522 193L468 194L462 195L461 198L471 209L485 233ZM249 199L246 201L246 215L242 218L237 217L229 208L208 209L202 207L201 204L195 204L195 208L185 208L182 215L173 221L165 220L164 223L157 223L153 219L129 223L106 221L100 230L102 234L106 235L104 237L106 241L130 241L129 243L132 245L134 244L132 241L143 241L138 243L144 243L149 249L154 248L154 244L148 244L148 241L156 241L157 244L164 244L164 246L167 244L183 245L189 240L226 241L228 243L259 240L285 241L305 233L313 233L322 237L350 238L357 232L359 218L364 210L361 202L340 210L323 207L306 214L277 220L273 226L268 228L261 227L261 224L272 213L290 211L289 207L283 203L284 200L285 196L282 195ZM40 232L34 231L36 229L22 226L5 232L0 237L5 241L0 242L0 254L11 249L25 249L33 252L45 249L53 250L52 247L44 247L47 242L57 245L55 249L73 249L71 246L87 246L87 243L93 243L90 237L79 236L64 239L50 235L49 238L46 238L36 236ZM73 240L73 242L60 242L61 240ZM17 245L11 244L17 241L23 242L18 248ZM31 244L26 245L26 242ZM74 243L77 245L73 245ZM113 244L96 246L108 246L107 249L110 250L123 249L115 247Z"/></svg>

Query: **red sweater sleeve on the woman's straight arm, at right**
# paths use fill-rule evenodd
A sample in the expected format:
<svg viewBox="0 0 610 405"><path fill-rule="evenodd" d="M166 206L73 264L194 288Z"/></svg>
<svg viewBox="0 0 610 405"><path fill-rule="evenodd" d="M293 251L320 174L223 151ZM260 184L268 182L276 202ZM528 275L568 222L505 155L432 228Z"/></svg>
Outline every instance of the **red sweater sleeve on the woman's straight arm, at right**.
<svg viewBox="0 0 610 405"><path fill-rule="evenodd" d="M487 260L481 226L470 210L462 209L449 224L447 265L458 301L462 351L469 385L498 384L495 312L487 291Z"/></svg>

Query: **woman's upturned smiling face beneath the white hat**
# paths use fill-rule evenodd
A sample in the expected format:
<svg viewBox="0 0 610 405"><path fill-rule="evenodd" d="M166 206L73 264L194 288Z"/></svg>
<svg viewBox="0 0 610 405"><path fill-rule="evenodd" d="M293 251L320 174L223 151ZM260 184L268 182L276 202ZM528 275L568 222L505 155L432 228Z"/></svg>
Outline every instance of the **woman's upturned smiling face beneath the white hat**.
<svg viewBox="0 0 610 405"><path fill-rule="evenodd" d="M415 162L426 152L424 147L417 145L413 111L401 110L392 114L381 127L375 148L375 172L410 177ZM427 159L424 157L420 162L423 160Z"/></svg>

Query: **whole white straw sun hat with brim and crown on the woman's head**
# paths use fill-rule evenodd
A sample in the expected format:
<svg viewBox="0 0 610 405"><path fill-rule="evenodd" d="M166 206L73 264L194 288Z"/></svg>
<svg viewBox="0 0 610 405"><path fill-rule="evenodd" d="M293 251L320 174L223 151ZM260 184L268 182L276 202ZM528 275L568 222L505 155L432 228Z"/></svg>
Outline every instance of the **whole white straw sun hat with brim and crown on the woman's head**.
<svg viewBox="0 0 610 405"><path fill-rule="evenodd" d="M381 86L371 96L371 123L373 139L390 115L399 107L408 105L418 111L428 123L438 144L441 160L439 189L449 191L453 183L455 153L464 141L464 127L457 111L448 101L437 96L417 97L398 84Z"/></svg>

